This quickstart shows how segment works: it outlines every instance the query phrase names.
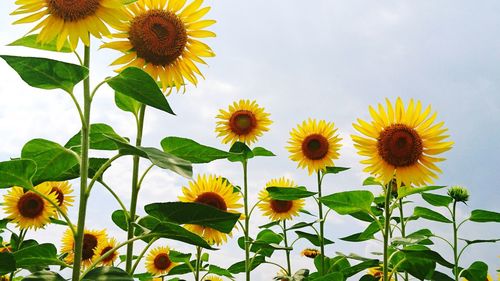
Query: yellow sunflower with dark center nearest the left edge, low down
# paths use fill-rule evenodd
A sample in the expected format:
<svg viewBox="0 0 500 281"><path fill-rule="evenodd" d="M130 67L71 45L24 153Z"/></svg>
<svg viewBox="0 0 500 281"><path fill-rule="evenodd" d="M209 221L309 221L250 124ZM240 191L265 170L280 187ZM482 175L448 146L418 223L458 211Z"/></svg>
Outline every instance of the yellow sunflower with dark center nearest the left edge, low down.
<svg viewBox="0 0 500 281"><path fill-rule="evenodd" d="M50 193L48 186L36 186L34 190L55 202L56 196ZM4 195L7 218L16 223L21 229L38 229L50 223L55 208L39 194L33 191L24 191L22 187L14 186Z"/></svg>

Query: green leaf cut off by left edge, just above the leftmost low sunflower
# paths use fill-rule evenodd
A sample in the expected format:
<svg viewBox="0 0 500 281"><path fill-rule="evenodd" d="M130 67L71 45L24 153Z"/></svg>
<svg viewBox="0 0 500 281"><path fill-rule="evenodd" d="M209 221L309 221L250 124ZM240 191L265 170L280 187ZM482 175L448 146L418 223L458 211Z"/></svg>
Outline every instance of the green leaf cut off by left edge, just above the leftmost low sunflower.
<svg viewBox="0 0 500 281"><path fill-rule="evenodd" d="M32 160L21 159L0 162L0 188L21 186L32 188L31 179L36 172L36 163Z"/></svg>

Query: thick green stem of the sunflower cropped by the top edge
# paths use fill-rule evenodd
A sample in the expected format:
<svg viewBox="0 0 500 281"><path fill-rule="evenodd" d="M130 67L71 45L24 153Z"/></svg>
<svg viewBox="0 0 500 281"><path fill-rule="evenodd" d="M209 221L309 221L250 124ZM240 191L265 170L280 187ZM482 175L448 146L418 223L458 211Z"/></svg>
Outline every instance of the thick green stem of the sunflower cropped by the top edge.
<svg viewBox="0 0 500 281"><path fill-rule="evenodd" d="M83 66L90 66L90 46L85 46ZM90 75L83 80L83 120L81 130L81 156L80 156L80 202L78 207L78 224L75 240L75 258L73 261L72 280L80 280L80 267L82 261L83 233L85 230L85 215L87 213L87 177L89 167L89 129L90 129Z"/></svg>

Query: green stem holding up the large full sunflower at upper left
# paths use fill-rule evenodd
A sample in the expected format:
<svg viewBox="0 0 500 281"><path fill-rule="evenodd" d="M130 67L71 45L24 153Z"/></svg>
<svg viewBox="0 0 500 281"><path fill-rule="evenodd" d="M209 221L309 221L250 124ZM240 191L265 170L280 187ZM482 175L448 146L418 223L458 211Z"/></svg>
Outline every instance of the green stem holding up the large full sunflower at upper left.
<svg viewBox="0 0 500 281"><path fill-rule="evenodd" d="M139 110L139 118L137 119L137 137L135 139L135 145L140 146L142 143L142 131L144 129L144 115L146 113L146 105L141 105ZM130 199L130 220L128 221L128 233L127 239L132 239L134 237L134 221L137 212L137 198L139 196L138 188L139 179L139 156L135 155L133 159L132 166L132 196ZM125 270L131 272L132 269L132 259L134 255L134 243L129 243L127 245L127 260L125 263Z"/></svg>

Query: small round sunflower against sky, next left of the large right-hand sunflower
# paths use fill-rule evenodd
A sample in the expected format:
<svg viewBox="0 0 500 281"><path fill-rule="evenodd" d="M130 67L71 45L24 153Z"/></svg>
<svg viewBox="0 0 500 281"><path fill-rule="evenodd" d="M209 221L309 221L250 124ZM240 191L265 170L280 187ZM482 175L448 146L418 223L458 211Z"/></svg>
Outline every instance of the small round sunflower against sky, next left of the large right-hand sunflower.
<svg viewBox="0 0 500 281"><path fill-rule="evenodd" d="M339 158L341 140L336 132L333 122L310 118L302 122L290 132L290 159L300 168L307 168L309 175L333 166L333 160Z"/></svg>

